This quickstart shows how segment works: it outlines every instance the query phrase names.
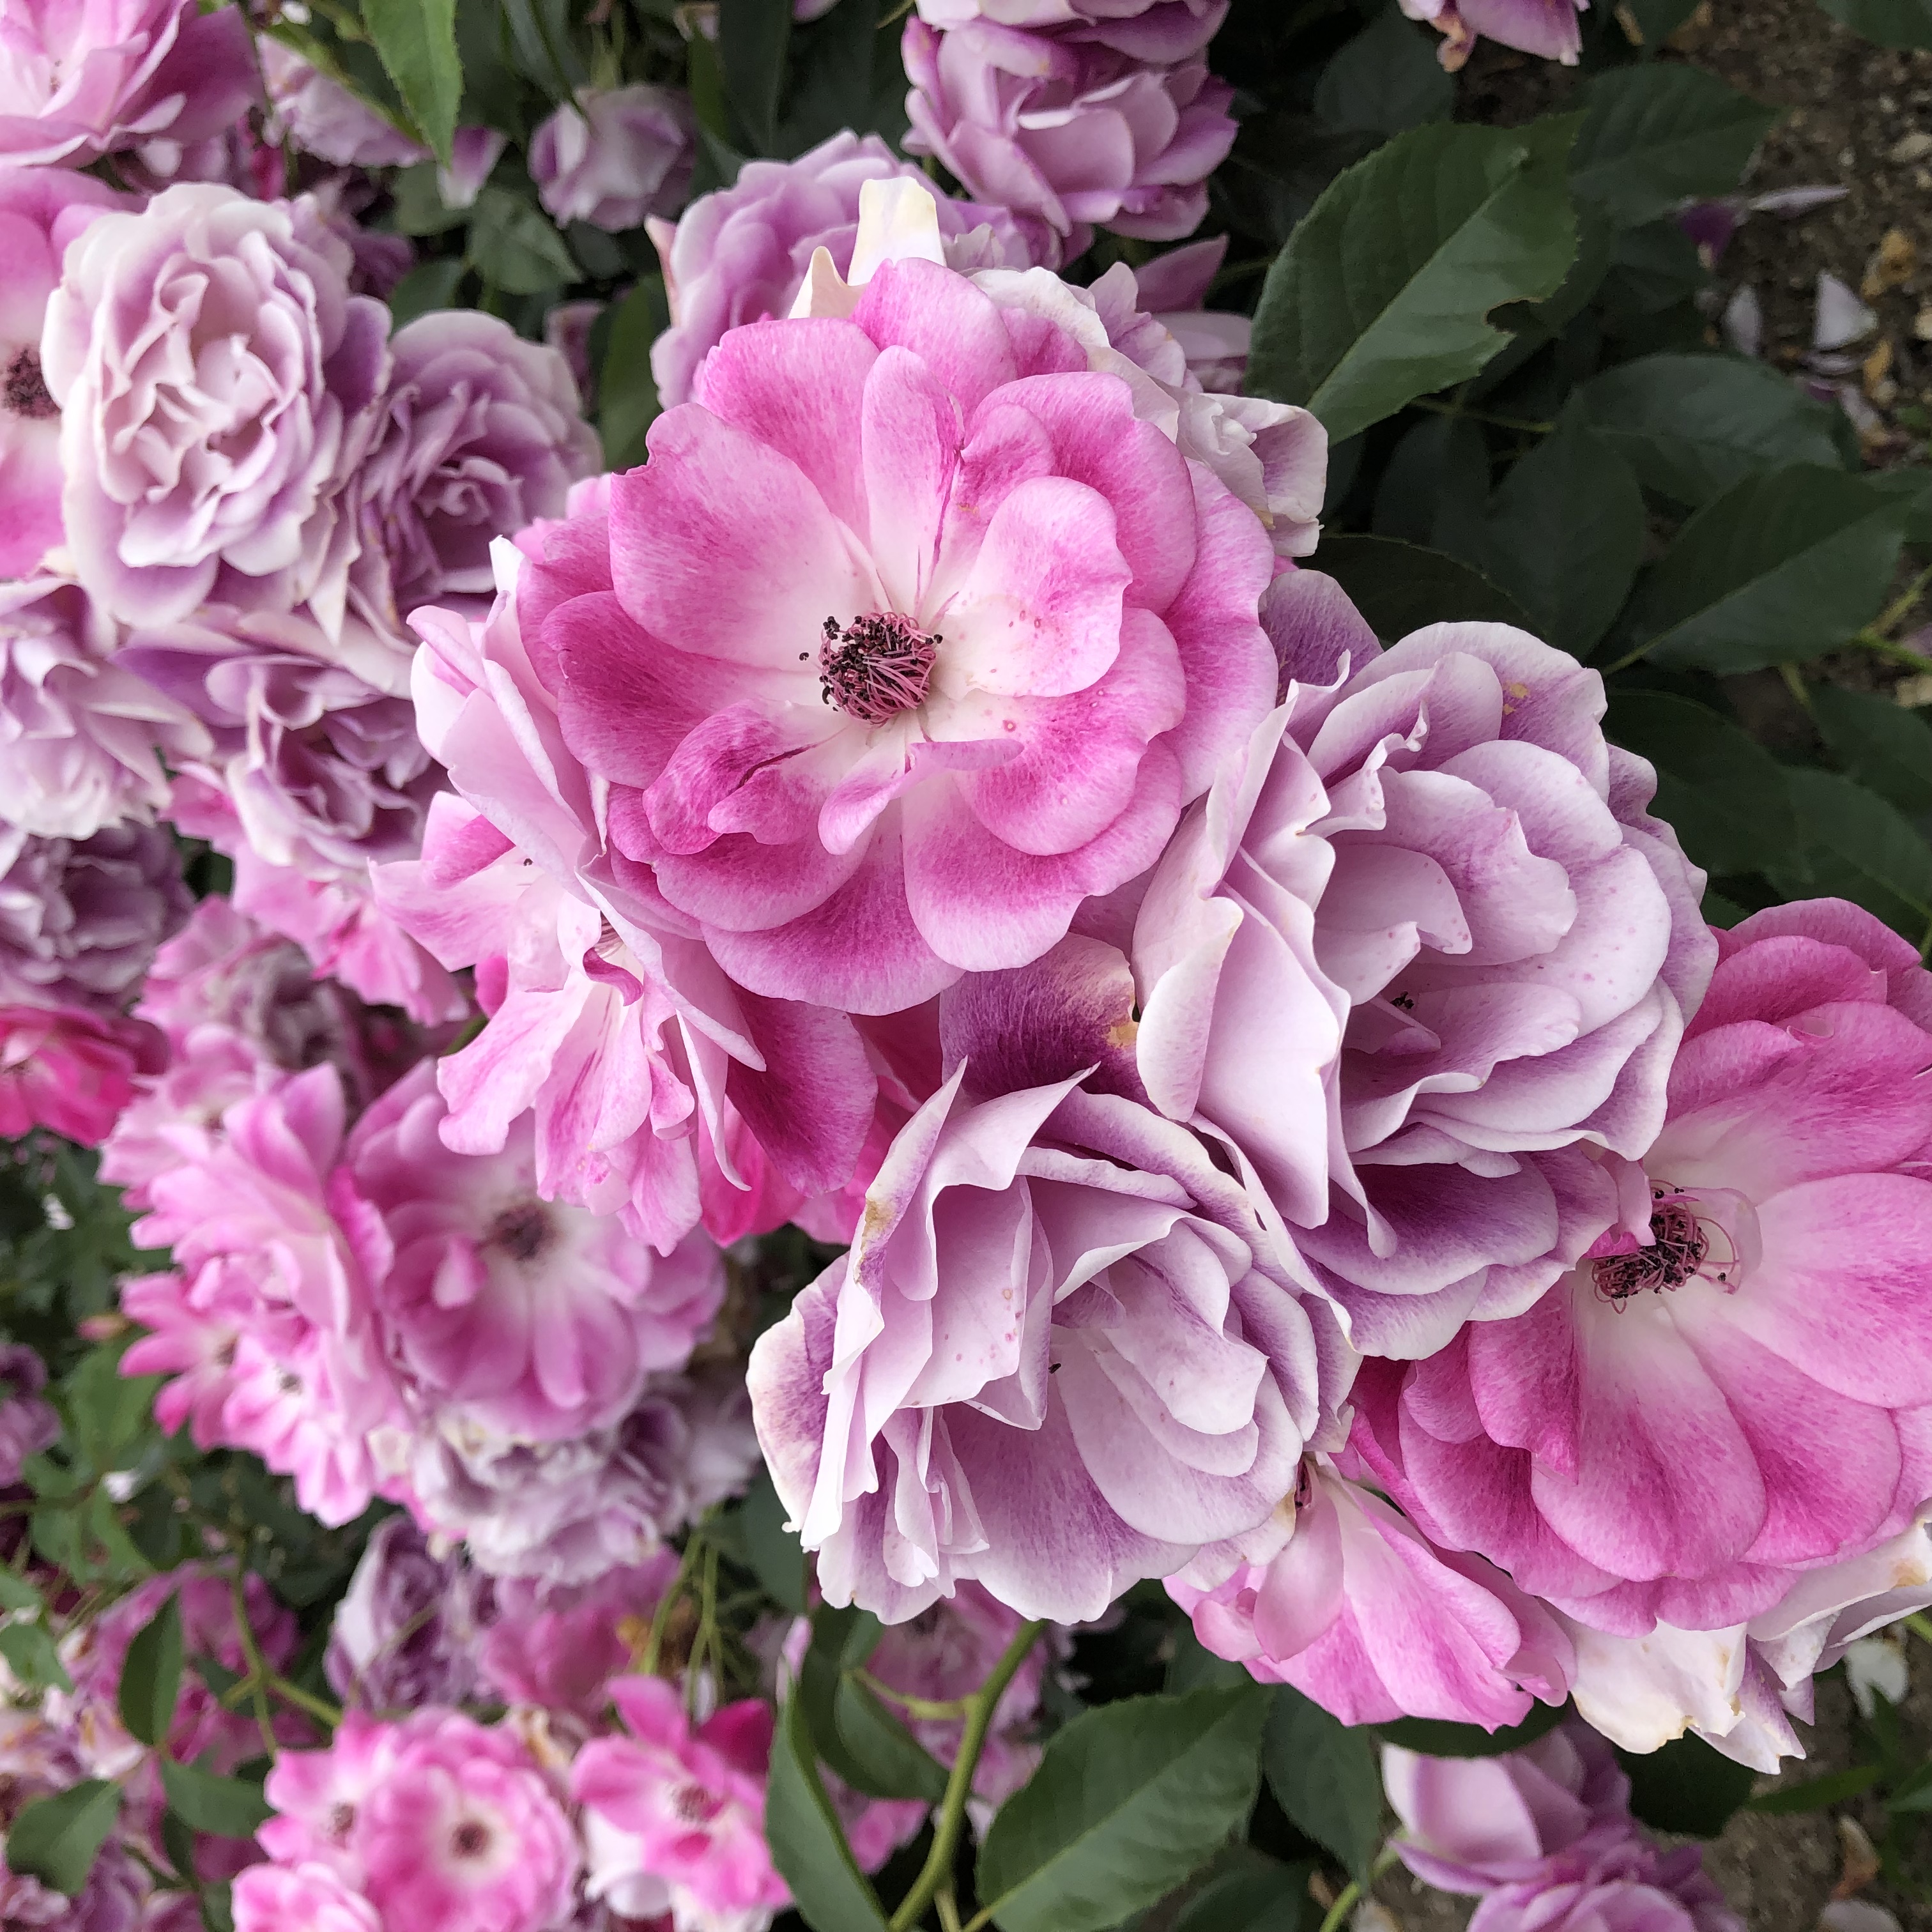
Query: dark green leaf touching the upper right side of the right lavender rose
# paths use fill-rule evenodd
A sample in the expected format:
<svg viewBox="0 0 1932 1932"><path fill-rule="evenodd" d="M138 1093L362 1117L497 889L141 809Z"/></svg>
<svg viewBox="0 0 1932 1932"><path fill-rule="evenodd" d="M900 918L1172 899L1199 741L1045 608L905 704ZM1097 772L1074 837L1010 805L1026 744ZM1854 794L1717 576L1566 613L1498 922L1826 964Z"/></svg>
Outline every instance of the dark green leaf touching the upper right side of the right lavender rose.
<svg viewBox="0 0 1932 1932"><path fill-rule="evenodd" d="M1658 767L1650 810L1719 877L1785 864L1799 840L1785 767L1723 713L1669 692L1619 690L1605 730Z"/></svg>

